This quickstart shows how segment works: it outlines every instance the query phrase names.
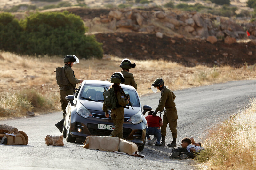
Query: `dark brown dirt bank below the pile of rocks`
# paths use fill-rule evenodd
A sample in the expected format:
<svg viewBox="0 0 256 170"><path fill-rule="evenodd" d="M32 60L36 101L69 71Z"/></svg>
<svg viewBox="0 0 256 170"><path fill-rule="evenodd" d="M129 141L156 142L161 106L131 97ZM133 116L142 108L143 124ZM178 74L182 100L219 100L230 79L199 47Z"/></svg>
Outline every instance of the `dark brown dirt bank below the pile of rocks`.
<svg viewBox="0 0 256 170"><path fill-rule="evenodd" d="M256 62L256 48L251 42L225 44L218 41L211 44L205 40L185 39L141 33L98 33L97 41L103 43L105 54L138 60L164 59L187 67L206 65L208 67L229 65L241 67L244 63ZM116 41L122 38L123 43ZM115 48L113 48L115 47ZM249 52L252 55L248 55Z"/></svg>

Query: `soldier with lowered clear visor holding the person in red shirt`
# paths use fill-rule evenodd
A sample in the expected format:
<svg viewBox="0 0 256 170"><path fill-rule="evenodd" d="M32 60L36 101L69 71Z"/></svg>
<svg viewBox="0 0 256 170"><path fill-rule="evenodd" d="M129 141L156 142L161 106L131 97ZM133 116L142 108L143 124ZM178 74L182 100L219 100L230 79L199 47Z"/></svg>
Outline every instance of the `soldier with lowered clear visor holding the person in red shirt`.
<svg viewBox="0 0 256 170"><path fill-rule="evenodd" d="M163 115L163 126L161 126L162 141L160 146L165 146L165 135L166 127L169 123L169 128L172 132L172 143L168 144L169 147L176 147L176 138L177 138L177 109L176 104L174 103L175 95L174 93L166 86L164 86L164 80L162 78L157 78L151 85L152 91L156 93L157 89L161 91L161 98L159 100L158 107L152 113L153 116L156 116L158 111L163 111L164 107L166 112Z"/></svg>

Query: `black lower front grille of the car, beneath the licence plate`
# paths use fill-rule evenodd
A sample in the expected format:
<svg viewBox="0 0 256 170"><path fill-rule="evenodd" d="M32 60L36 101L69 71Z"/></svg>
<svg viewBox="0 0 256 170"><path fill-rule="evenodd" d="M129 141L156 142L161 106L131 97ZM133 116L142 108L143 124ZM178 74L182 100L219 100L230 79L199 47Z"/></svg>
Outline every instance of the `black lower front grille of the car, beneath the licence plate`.
<svg viewBox="0 0 256 170"><path fill-rule="evenodd" d="M97 136L108 136L111 134L112 130L105 130L105 129L98 129L97 124L87 124L87 128L89 129L90 133L92 135L97 135ZM123 137L124 139L130 135L132 132L132 129L130 128L123 128Z"/></svg>

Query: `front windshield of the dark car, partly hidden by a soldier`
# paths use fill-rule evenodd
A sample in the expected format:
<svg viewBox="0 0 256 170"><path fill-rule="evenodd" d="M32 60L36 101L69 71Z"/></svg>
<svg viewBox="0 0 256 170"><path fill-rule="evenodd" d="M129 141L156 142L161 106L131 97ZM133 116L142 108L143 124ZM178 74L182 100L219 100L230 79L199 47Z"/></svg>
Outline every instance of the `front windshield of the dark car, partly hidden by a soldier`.
<svg viewBox="0 0 256 170"><path fill-rule="evenodd" d="M106 87L106 86L104 86L104 85L84 85L81 99L96 101L96 102L103 102L104 101L104 97L103 97L104 87ZM132 103L132 106L139 107L140 103L139 103L137 93L134 90L128 90L128 89L123 89L123 90L124 90L125 94L130 95L130 101Z"/></svg>

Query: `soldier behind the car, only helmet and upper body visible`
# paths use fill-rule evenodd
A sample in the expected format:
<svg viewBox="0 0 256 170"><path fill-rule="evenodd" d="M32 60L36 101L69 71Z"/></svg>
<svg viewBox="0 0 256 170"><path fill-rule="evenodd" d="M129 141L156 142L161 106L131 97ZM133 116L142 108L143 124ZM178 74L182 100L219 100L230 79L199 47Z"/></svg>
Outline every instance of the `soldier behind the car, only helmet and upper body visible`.
<svg viewBox="0 0 256 170"><path fill-rule="evenodd" d="M121 64L119 65L120 68L122 68L121 73L124 75L125 81L123 84L125 85L131 85L137 90L137 84L134 80L133 74L129 73L129 70L131 68L135 68L136 64L131 63L131 61L128 58L125 58L122 60Z"/></svg>

